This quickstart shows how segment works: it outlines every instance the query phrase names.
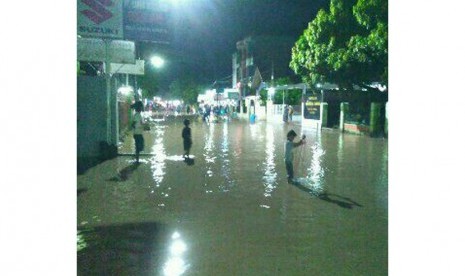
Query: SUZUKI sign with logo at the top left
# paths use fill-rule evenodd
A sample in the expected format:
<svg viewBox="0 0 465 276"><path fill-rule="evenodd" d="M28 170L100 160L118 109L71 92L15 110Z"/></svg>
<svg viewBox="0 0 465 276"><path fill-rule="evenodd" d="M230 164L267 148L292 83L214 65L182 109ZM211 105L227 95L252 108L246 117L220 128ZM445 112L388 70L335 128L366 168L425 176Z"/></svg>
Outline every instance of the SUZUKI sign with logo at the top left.
<svg viewBox="0 0 465 276"><path fill-rule="evenodd" d="M123 38L123 0L78 0L77 34Z"/></svg>

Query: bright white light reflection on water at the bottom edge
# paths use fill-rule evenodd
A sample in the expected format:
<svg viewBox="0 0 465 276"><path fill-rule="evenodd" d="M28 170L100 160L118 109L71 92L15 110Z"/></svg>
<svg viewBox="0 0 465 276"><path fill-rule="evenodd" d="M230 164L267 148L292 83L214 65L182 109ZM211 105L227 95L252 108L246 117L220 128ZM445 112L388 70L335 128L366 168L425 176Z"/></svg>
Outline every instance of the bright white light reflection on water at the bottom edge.
<svg viewBox="0 0 465 276"><path fill-rule="evenodd" d="M183 258L183 254L187 251L187 245L182 240L179 232L174 232L171 236L171 244L169 246L168 260L163 267L163 274L166 276L182 275L189 268L189 265Z"/></svg>

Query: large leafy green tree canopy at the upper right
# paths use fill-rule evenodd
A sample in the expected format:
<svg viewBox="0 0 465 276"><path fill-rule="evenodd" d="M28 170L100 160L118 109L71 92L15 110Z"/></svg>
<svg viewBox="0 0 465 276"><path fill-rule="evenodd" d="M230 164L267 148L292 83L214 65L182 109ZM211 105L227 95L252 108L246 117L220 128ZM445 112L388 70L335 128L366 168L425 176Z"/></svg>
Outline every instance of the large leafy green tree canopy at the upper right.
<svg viewBox="0 0 465 276"><path fill-rule="evenodd" d="M331 0L296 41L290 68L311 85L387 85L387 13L387 0Z"/></svg>

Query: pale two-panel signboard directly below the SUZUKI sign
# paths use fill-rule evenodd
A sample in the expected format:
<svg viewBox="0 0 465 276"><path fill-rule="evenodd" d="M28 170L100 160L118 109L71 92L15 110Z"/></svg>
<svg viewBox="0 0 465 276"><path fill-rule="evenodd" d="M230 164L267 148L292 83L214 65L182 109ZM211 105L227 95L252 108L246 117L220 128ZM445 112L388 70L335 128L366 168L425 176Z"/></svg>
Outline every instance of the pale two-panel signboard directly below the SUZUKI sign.
<svg viewBox="0 0 465 276"><path fill-rule="evenodd" d="M78 38L77 58L79 61L101 61L134 64L136 59L133 41L104 41L98 38Z"/></svg>

